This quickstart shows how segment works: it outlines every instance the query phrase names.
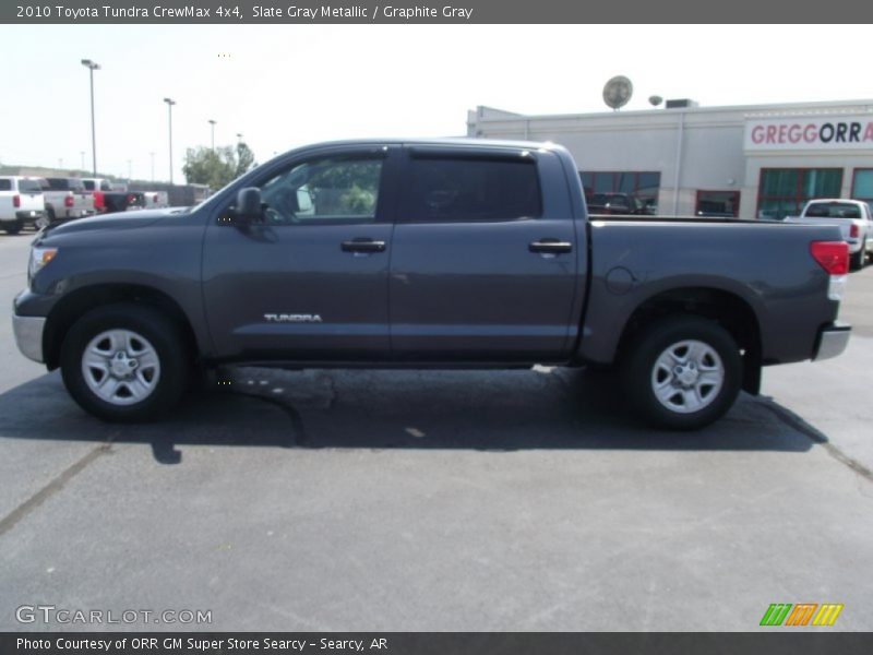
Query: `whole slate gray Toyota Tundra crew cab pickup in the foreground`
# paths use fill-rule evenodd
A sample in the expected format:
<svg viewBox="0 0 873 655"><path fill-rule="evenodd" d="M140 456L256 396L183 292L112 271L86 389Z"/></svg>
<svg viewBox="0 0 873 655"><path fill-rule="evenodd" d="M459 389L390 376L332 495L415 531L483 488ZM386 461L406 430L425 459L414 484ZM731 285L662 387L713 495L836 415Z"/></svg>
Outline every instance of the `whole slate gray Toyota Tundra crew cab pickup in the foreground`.
<svg viewBox="0 0 873 655"><path fill-rule="evenodd" d="M110 420L159 415L220 364L593 364L687 429L757 393L762 366L842 352L847 269L837 227L588 221L557 145L344 142L190 209L47 228L14 332Z"/></svg>

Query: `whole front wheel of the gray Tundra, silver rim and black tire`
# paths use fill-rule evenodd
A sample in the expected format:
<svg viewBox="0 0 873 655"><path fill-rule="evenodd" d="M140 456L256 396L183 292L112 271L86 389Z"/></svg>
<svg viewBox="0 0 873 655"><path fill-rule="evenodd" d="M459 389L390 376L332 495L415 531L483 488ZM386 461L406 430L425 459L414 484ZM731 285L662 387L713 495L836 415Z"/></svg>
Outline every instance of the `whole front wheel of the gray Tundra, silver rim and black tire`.
<svg viewBox="0 0 873 655"><path fill-rule="evenodd" d="M189 368L177 326L139 305L89 311L61 346L61 376L70 395L83 409L109 421L164 415L182 396Z"/></svg>

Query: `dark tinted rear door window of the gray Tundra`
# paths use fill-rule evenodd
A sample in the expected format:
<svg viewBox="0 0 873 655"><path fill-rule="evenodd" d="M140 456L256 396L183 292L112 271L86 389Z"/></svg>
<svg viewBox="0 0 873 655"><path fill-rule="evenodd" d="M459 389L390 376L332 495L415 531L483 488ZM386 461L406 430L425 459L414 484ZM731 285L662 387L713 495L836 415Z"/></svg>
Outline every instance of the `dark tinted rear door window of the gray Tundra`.
<svg viewBox="0 0 873 655"><path fill-rule="evenodd" d="M542 214L534 162L412 158L406 199L411 221L512 221Z"/></svg>

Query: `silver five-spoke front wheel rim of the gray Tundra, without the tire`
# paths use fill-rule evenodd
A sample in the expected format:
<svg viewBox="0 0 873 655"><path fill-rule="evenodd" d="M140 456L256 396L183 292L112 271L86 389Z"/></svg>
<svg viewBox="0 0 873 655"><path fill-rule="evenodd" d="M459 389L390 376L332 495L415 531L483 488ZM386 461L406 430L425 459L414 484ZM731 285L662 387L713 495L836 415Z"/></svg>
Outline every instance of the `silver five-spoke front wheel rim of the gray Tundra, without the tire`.
<svg viewBox="0 0 873 655"><path fill-rule="evenodd" d="M82 354L82 377L92 392L112 405L147 398L160 379L155 347L131 330L107 330Z"/></svg>

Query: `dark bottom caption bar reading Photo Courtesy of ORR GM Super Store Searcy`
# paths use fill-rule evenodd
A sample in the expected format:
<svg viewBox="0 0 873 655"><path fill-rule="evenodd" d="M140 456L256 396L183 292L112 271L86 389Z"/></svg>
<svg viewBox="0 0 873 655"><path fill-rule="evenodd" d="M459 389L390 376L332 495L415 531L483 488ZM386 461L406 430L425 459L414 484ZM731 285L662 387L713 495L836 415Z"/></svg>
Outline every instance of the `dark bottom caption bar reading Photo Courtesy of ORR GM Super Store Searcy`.
<svg viewBox="0 0 873 655"><path fill-rule="evenodd" d="M340 632L0 633L3 655L868 655L873 635L804 629L756 633Z"/></svg>

